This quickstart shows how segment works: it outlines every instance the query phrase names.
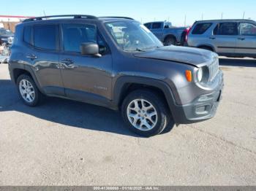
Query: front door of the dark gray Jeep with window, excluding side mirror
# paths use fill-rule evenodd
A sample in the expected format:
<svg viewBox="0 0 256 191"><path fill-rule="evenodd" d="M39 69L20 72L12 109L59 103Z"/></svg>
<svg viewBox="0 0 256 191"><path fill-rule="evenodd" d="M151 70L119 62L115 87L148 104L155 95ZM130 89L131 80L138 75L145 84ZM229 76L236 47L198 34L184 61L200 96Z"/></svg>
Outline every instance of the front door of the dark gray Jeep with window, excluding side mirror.
<svg viewBox="0 0 256 191"><path fill-rule="evenodd" d="M99 104L111 98L112 58L107 45L91 23L61 25L62 52L60 63L65 94L78 101ZM81 55L80 44L99 44L102 57ZM97 102L97 103L94 103Z"/></svg>

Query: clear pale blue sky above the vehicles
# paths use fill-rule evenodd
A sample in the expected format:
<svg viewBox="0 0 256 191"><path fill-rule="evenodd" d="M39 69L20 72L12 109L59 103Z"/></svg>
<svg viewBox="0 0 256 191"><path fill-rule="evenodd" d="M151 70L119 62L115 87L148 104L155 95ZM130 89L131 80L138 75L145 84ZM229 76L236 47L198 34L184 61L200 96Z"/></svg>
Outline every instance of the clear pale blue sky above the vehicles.
<svg viewBox="0 0 256 191"><path fill-rule="evenodd" d="M190 26L195 20L250 18L256 20L255 0L8 0L0 15L42 16L83 14L127 16L142 23L169 20Z"/></svg>

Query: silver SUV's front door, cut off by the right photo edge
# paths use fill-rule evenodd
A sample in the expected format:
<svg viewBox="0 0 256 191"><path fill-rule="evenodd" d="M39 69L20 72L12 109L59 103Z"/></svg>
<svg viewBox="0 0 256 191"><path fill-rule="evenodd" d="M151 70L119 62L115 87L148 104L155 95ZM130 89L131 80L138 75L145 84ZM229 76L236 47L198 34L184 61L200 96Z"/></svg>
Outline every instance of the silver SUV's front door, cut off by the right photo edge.
<svg viewBox="0 0 256 191"><path fill-rule="evenodd" d="M254 23L239 23L236 53L256 55L256 25Z"/></svg>

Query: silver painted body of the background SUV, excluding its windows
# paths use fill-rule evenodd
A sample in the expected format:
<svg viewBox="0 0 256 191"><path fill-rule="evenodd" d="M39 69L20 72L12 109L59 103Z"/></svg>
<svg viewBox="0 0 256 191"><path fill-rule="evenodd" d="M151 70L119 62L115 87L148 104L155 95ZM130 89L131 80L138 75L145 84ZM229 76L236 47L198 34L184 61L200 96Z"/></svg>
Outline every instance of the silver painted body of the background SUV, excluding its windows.
<svg viewBox="0 0 256 191"><path fill-rule="evenodd" d="M211 23L211 27L203 34L192 34L199 23ZM214 28L219 23L238 23L238 35L214 35ZM194 23L189 32L187 44L190 47L211 47L219 55L256 57L256 36L239 34L239 23L252 23L254 20L201 20Z"/></svg>

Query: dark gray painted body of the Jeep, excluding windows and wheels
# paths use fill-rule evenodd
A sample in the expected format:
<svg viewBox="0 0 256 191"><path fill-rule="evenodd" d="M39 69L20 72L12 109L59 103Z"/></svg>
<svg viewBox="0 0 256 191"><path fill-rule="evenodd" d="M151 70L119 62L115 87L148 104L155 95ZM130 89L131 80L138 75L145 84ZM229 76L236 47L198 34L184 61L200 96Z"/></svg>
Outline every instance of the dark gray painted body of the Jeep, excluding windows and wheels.
<svg viewBox="0 0 256 191"><path fill-rule="evenodd" d="M122 90L127 84L150 85L162 90L177 123L206 120L214 115L214 112L200 117L189 114L194 116L193 119L189 119L186 112L192 109L184 109L184 106L194 108L194 101L204 94L219 95L219 90L222 89L221 71L215 82L207 85L200 85L196 81L187 82L184 73L191 70L195 79L198 67L208 66L217 59L215 53L175 46L161 47L148 52L124 52L104 26L105 22L113 20L130 22L129 19L121 18L80 18L36 20L19 24L16 27L9 64L12 80L15 81L15 69L26 69L36 81L39 90L46 95L112 109L118 109L121 96L124 96ZM23 42L23 26L45 23L60 26L61 23L94 24L108 44L109 51L102 57L95 57L81 55L79 52L64 52L61 42L59 50L53 52L37 50ZM37 58L27 58L28 55L36 55ZM76 67L69 67L67 59ZM210 104L214 105L215 101L211 101Z"/></svg>

